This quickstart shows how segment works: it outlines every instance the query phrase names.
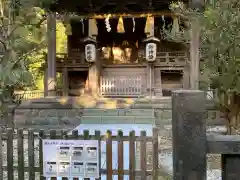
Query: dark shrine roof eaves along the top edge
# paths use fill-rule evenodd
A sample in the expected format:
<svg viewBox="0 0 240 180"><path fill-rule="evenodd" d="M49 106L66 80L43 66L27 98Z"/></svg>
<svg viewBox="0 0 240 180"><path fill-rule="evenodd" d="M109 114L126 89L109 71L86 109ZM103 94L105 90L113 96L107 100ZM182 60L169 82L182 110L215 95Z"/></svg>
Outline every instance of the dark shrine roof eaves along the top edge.
<svg viewBox="0 0 240 180"><path fill-rule="evenodd" d="M172 0L57 0L51 6L55 12L67 11L80 15L113 13L170 12ZM184 3L188 2L183 0Z"/></svg>

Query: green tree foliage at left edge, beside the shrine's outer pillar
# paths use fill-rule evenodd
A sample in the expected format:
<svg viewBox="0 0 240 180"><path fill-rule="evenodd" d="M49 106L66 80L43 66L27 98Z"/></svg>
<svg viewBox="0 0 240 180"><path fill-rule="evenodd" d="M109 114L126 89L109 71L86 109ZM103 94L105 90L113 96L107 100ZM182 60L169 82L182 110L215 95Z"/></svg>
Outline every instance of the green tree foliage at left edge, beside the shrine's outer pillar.
<svg viewBox="0 0 240 180"><path fill-rule="evenodd" d="M32 65L46 47L46 14L37 1L0 1L0 105L14 88L34 84ZM34 58L33 58L34 57Z"/></svg>

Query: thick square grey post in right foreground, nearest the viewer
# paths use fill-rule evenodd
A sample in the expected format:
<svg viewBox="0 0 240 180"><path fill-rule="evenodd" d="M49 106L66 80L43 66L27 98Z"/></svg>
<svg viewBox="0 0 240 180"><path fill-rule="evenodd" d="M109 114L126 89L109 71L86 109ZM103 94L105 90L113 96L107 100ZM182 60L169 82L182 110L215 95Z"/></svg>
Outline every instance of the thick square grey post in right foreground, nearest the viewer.
<svg viewBox="0 0 240 180"><path fill-rule="evenodd" d="M172 93L173 179L206 179L205 93L178 90Z"/></svg>

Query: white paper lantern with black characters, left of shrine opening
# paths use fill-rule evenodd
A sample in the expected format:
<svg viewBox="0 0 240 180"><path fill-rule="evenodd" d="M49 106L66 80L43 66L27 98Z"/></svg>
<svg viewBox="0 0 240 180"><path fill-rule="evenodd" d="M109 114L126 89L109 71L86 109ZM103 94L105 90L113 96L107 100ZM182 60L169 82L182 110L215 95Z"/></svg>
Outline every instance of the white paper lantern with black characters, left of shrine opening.
<svg viewBox="0 0 240 180"><path fill-rule="evenodd" d="M96 62L96 40L92 37L87 37L84 40L85 43L85 59L87 62Z"/></svg>

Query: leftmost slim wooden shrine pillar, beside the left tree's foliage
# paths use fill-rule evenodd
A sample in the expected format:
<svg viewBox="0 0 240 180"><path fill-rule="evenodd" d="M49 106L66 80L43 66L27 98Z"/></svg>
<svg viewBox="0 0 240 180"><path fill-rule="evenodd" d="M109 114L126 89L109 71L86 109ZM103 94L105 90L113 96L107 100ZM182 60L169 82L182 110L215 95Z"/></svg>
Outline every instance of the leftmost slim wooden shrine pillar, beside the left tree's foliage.
<svg viewBox="0 0 240 180"><path fill-rule="evenodd" d="M48 56L47 56L47 89L48 96L56 95L56 16L48 13L47 17Z"/></svg>

